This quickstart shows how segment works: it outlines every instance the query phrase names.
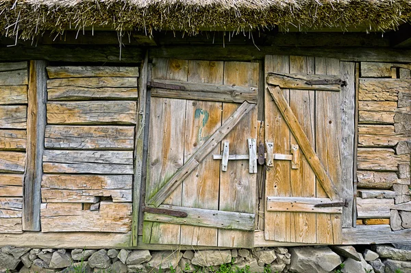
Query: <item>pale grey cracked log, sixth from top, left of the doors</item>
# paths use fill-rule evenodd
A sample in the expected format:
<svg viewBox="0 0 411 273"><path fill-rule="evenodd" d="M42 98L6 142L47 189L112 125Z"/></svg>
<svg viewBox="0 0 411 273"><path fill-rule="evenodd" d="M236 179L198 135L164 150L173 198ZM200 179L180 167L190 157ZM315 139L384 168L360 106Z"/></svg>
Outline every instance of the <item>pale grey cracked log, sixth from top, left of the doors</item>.
<svg viewBox="0 0 411 273"><path fill-rule="evenodd" d="M132 151L45 150L46 173L133 174Z"/></svg>

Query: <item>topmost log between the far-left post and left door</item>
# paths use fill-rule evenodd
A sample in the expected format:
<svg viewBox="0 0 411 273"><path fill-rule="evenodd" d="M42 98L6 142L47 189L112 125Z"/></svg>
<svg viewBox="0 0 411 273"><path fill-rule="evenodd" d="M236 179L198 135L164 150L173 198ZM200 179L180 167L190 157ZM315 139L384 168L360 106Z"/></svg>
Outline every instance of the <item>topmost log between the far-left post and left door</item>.
<svg viewBox="0 0 411 273"><path fill-rule="evenodd" d="M50 79L75 77L138 77L138 66L47 66Z"/></svg>

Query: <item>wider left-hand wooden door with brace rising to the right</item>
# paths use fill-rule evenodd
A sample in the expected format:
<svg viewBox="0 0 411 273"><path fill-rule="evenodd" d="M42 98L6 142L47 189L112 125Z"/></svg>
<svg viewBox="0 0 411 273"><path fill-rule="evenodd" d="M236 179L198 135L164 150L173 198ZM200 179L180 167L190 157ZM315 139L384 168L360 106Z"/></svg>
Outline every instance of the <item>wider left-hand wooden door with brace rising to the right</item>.
<svg viewBox="0 0 411 273"><path fill-rule="evenodd" d="M252 247L258 63L154 59L143 242ZM222 144L223 143L223 144Z"/></svg>

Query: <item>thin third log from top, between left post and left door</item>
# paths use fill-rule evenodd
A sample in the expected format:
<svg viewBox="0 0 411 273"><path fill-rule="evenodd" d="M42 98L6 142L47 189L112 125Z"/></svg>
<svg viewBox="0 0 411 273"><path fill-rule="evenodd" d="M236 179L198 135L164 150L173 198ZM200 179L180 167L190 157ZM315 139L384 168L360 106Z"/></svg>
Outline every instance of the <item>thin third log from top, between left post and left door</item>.
<svg viewBox="0 0 411 273"><path fill-rule="evenodd" d="M137 88L56 87L47 89L49 101L97 101L137 99Z"/></svg>

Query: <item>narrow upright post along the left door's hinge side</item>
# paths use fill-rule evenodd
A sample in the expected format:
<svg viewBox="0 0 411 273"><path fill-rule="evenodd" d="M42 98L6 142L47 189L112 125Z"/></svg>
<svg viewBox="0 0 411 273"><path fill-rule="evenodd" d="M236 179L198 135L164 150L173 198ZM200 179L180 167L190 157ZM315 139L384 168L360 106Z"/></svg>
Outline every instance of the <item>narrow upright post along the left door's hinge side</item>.
<svg viewBox="0 0 411 273"><path fill-rule="evenodd" d="M140 78L138 78L138 110L136 125L136 142L134 149L135 168L133 183L133 224L132 224L132 246L137 246L138 242L138 217L140 214L140 198L143 170L143 146L145 139L145 116L147 99L147 72L148 72L149 53L145 54L145 59L141 65Z"/></svg>

